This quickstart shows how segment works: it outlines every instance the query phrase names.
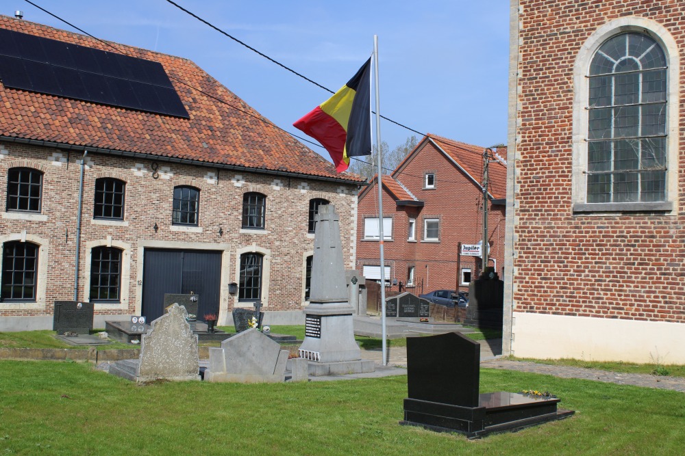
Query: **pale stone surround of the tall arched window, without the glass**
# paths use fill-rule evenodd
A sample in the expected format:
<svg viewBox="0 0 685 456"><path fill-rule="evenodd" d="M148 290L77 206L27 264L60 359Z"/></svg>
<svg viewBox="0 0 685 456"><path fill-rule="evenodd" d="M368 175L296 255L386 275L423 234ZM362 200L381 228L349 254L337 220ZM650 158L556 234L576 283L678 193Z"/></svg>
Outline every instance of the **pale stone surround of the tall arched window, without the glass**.
<svg viewBox="0 0 685 456"><path fill-rule="evenodd" d="M661 46L667 59L667 176L666 200L664 202L587 202L587 167L588 167L588 106L590 62L597 49L620 33L649 33ZM651 19L630 16L615 19L599 27L583 44L575 59L573 68L575 94L573 98L573 213L611 213L616 211L664 211L675 215L678 204L678 122L680 116L680 54L671 33Z"/></svg>

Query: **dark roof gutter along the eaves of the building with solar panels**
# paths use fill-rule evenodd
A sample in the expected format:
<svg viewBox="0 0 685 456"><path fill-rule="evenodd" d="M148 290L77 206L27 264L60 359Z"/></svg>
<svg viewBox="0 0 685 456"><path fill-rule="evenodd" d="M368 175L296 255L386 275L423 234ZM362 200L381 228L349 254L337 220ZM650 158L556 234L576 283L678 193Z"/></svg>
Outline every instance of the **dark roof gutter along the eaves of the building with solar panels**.
<svg viewBox="0 0 685 456"><path fill-rule="evenodd" d="M262 168L237 166L237 165L226 165L223 163L210 163L207 161L200 161L200 160L179 159L179 158L175 158L175 157L164 157L162 155L144 154L142 152L129 152L126 150L105 149L105 148L89 147L89 146L75 146L74 144L64 144L64 143L59 143L59 142L42 141L40 139L24 139L24 138L19 138L19 137L0 135L0 141L16 142L16 143L20 143L20 144L31 144L32 146L53 147L53 148L58 148L58 149L62 149L62 150L78 150L79 152L85 152L87 149L88 152L90 152L92 154L95 153L95 154L104 154L104 155L116 155L119 157L133 157L133 158L145 159L145 160L158 160L158 161L165 161L168 163L180 163L182 165L195 165L195 166L213 167L213 168L219 168L221 170L232 170L232 171L242 171L242 172L260 172L260 173L264 173L264 174L273 174L275 176L308 178L308 179L312 179L312 180L323 180L325 182L334 182L334 183L347 184L347 185L357 185L357 186L368 185L364 181L336 179L333 177L324 177L324 176L313 176L311 174L301 174L301 173L297 173L297 172L265 170Z"/></svg>

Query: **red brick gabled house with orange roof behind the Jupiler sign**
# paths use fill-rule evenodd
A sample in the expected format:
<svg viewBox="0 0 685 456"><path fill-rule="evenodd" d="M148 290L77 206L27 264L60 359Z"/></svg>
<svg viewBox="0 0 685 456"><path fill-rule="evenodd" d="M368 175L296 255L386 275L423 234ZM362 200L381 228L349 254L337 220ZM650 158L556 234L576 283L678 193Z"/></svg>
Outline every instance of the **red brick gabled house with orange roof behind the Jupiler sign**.
<svg viewBox="0 0 685 456"><path fill-rule="evenodd" d="M469 291L481 259L459 245L483 237L484 148L426 135L391 174L382 176L386 280L415 294L435 289ZM506 163L499 150L489 167L490 266L502 272ZM358 202L357 269L380 280L377 177Z"/></svg>

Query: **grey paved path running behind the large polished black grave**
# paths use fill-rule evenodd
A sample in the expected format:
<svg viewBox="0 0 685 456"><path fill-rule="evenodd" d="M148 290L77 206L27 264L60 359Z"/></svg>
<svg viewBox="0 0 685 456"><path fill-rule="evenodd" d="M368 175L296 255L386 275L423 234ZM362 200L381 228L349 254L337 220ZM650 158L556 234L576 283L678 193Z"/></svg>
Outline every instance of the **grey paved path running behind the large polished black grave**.
<svg viewBox="0 0 685 456"><path fill-rule="evenodd" d="M660 390L685 392L685 378L682 377L617 373L582 367L560 366L558 364L537 364L527 361L502 360L501 358L497 358L497 355L501 354L501 340L479 340L478 342L481 344L481 365L485 368L547 374L562 378L605 381L607 383L619 385L644 386L647 388L658 388ZM406 373L406 371L399 369L402 367L406 368L407 366L406 347L390 347L388 353L388 367L395 367L395 369L388 369L385 375L401 375L402 373ZM377 366L382 364L382 353L380 349L362 350L362 358L374 360ZM383 375L381 374L379 376Z"/></svg>

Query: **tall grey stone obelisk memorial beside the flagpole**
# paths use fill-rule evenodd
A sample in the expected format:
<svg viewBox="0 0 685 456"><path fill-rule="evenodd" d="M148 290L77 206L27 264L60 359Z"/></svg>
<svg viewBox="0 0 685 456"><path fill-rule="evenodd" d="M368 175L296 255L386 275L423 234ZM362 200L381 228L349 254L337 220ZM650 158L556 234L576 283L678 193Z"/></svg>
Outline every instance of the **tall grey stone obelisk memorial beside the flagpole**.
<svg viewBox="0 0 685 456"><path fill-rule="evenodd" d="M319 207L316 215L309 301L304 310L305 338L299 348L299 356L309 360L309 374L373 372L373 361L361 359L362 352L354 340L354 310L347 295L340 219L333 204Z"/></svg>

